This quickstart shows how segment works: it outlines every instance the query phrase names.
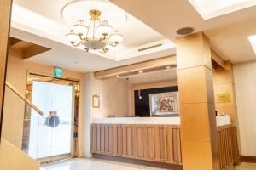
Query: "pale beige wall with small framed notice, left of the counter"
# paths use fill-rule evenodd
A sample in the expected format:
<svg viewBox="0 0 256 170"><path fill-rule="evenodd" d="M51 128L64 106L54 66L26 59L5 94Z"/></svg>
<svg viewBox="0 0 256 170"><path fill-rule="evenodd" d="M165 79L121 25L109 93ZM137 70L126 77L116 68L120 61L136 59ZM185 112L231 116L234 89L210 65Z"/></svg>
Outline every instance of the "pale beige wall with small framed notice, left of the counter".
<svg viewBox="0 0 256 170"><path fill-rule="evenodd" d="M84 156L90 157L90 123L93 118L126 116L129 111L129 85L125 79L97 80L84 74ZM100 108L92 108L92 95L100 96Z"/></svg>

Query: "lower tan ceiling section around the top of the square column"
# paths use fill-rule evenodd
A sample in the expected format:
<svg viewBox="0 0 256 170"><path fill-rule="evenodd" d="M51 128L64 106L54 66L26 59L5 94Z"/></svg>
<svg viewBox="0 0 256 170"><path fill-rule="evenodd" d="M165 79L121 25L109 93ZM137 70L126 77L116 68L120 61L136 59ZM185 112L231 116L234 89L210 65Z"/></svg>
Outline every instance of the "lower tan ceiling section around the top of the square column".
<svg viewBox="0 0 256 170"><path fill-rule="evenodd" d="M161 0L160 3L155 0L111 1L172 42L175 42L178 36L177 29L192 26L195 31L206 33L212 48L224 59L229 59L232 63L256 59L256 54L253 53L253 48L247 40L247 36L256 34L256 6L204 20L188 0ZM221 2L226 1L237 0ZM213 1L204 0L204 2L211 7Z"/></svg>

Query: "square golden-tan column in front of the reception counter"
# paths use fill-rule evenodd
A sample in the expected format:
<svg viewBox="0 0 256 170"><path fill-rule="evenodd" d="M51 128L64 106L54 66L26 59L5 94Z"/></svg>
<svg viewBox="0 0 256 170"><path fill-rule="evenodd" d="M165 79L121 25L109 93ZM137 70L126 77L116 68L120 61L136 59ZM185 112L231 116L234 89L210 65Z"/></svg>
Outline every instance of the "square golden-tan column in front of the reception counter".
<svg viewBox="0 0 256 170"><path fill-rule="evenodd" d="M218 170L211 50L202 33L177 37L183 170Z"/></svg>

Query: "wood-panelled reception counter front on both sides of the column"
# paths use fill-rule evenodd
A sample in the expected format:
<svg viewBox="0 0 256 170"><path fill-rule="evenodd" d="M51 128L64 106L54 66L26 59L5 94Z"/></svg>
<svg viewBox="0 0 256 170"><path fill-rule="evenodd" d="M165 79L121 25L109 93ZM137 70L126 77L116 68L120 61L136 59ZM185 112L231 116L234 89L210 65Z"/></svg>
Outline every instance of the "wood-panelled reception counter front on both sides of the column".
<svg viewBox="0 0 256 170"><path fill-rule="evenodd" d="M221 170L239 162L236 127L218 127ZM91 153L182 165L177 125L92 124Z"/></svg>

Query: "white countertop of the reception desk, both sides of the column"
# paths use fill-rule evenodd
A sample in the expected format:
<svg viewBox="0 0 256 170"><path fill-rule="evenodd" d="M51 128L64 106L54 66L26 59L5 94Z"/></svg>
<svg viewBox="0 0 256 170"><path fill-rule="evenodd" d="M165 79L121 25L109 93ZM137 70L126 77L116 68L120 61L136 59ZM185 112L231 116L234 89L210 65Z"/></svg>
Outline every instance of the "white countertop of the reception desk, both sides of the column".
<svg viewBox="0 0 256 170"><path fill-rule="evenodd" d="M217 126L231 124L230 116L217 116ZM95 118L92 123L96 124L165 124L180 125L180 117L111 117Z"/></svg>

